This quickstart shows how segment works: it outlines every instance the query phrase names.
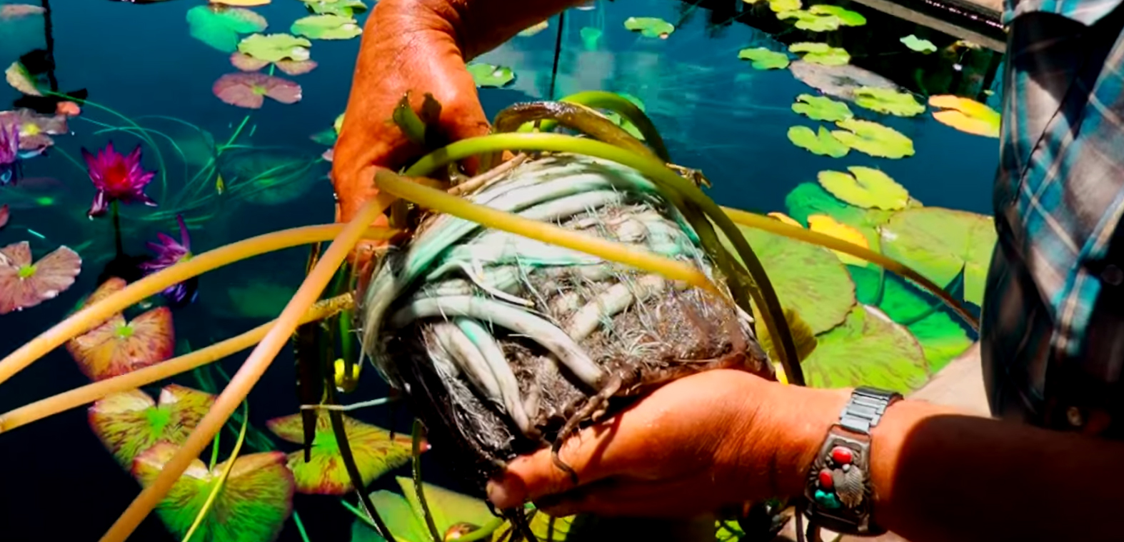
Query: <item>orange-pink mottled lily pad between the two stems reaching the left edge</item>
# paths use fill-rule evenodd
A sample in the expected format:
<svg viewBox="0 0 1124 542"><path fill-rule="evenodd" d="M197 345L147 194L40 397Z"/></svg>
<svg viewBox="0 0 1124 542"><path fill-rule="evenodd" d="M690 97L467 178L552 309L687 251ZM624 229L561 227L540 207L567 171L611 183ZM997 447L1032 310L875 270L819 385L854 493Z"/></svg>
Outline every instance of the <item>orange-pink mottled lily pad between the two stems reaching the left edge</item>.
<svg viewBox="0 0 1124 542"><path fill-rule="evenodd" d="M124 280L111 278L98 287L82 306L88 307L124 288ZM117 313L67 341L66 351L91 380L103 380L154 365L171 358L175 351L172 310L156 307L132 322L126 322L125 316Z"/></svg>

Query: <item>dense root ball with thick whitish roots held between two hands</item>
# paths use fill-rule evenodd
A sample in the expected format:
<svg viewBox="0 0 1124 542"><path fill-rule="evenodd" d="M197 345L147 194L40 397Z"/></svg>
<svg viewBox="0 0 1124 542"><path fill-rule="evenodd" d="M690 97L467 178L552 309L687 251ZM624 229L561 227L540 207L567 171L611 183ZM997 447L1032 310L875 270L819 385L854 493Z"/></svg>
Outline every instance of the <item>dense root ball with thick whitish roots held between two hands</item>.
<svg viewBox="0 0 1124 542"><path fill-rule="evenodd" d="M723 284L687 222L635 171L572 155L508 170L466 197L689 262ZM728 296L447 215L380 261L362 315L375 367L435 443L466 452L466 478L481 486L622 403L605 399L710 369L772 377Z"/></svg>

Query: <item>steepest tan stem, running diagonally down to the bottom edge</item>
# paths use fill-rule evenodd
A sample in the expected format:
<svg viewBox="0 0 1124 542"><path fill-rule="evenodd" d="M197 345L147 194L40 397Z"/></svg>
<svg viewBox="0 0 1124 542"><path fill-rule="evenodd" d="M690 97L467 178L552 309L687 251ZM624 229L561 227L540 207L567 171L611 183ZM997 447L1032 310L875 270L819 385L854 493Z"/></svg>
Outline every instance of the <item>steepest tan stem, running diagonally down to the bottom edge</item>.
<svg viewBox="0 0 1124 542"><path fill-rule="evenodd" d="M336 268L347 258L347 254L355 244L363 238L369 225L382 214L390 200L390 197L380 196L366 202L360 209L359 214L347 223L347 226L339 232L335 241L332 242L332 245L324 253L324 256L312 268L308 278L297 289L297 293L285 305L284 310L281 311L281 316L278 318L278 323L265 334L265 338L257 344L257 347L254 349L250 358L242 364L238 372L234 374L230 383L215 399L214 406L211 406L207 415L199 422L196 430L191 432L191 435L188 436L183 445L175 452L175 455L167 461L156 479L145 487L125 513L114 522L114 525L101 538L101 542L124 542L136 530L137 525L148 516L148 513L167 495L175 480L183 475L183 471L187 470L191 461L196 460L203 449L207 448L210 440L223 428L226 421L246 398L251 388L254 387L265 372L265 369L272 363L273 358L277 356L281 347L292 336L293 331L297 329L301 315L316 302L320 292L324 291L324 288L328 286L328 282L335 274Z"/></svg>

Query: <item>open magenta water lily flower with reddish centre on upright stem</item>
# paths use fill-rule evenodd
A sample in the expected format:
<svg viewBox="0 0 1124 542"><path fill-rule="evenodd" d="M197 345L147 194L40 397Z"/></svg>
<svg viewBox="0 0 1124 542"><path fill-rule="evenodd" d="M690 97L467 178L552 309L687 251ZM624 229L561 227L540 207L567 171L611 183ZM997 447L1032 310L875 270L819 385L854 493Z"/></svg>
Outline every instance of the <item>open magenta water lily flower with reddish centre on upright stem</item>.
<svg viewBox="0 0 1124 542"><path fill-rule="evenodd" d="M128 155L124 155L114 150L114 144L110 142L106 148L98 151L97 156L82 148L82 157L85 159L93 188L98 189L93 204L87 213L90 218L105 215L109 209L109 202L114 200L156 206L156 202L144 193L144 188L156 172L145 171L140 166L140 145Z"/></svg>

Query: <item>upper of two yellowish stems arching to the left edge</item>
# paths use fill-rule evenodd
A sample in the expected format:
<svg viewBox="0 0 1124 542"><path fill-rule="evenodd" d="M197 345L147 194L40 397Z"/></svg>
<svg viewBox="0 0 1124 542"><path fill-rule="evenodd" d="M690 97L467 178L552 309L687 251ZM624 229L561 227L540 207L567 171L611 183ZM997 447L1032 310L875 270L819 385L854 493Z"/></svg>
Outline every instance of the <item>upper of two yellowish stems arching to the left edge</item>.
<svg viewBox="0 0 1124 542"><path fill-rule="evenodd" d="M15 352L8 354L3 360L0 360L0 383L34 363L35 360L43 358L56 346L76 335L85 333L91 327L105 322L129 305L162 291L172 284L266 252L316 243L318 241L328 241L339 235L343 229L344 225L342 224L327 224L259 235L205 252L190 260L149 274L129 284L124 290L74 313L69 318L55 324L51 329L47 329ZM365 228L360 235L365 238L386 240L393 235L393 232L383 228Z"/></svg>

